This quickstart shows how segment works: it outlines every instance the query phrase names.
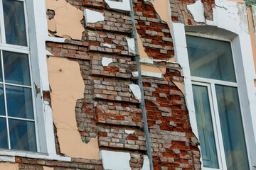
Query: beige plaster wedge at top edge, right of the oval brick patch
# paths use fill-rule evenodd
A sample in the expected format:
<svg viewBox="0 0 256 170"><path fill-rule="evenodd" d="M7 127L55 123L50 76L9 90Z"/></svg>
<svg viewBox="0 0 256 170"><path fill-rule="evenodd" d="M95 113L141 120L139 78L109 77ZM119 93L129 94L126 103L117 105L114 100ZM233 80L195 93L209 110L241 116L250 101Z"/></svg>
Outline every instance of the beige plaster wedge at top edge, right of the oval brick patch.
<svg viewBox="0 0 256 170"><path fill-rule="evenodd" d="M159 14L160 18L162 21L165 21L168 23L168 26L170 28L171 23L170 23L170 13L169 13L169 0L154 0L152 2L156 13ZM170 33L171 33L171 28L170 28Z"/></svg>

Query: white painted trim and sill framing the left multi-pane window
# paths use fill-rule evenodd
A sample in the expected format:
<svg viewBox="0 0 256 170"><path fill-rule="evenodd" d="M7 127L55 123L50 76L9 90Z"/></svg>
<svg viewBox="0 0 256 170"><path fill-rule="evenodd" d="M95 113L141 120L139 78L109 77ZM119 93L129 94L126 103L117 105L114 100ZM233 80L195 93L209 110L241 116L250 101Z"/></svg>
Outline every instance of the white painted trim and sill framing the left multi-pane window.
<svg viewBox="0 0 256 170"><path fill-rule="evenodd" d="M48 36L45 0L18 1L26 1L26 8L29 9L26 11L27 15L30 17L29 20L26 19L26 22L29 23L27 28L29 30L29 35L27 33L27 41L28 43L33 43L28 44L28 47L17 46L16 52L27 53L30 49L30 55L33 56L30 58L31 72L33 72L31 74L31 78L33 79L31 86L35 90L34 84L36 84L37 88L40 89L40 94L37 95L36 91L33 91L33 101L35 102L34 109L37 115L35 121L37 121L38 126L36 130L39 148L38 152L0 149L0 162L15 162L15 156L71 162L70 157L62 157L56 154L55 136L53 132L53 113L48 101L43 101L43 91L50 91L46 56L51 54L46 50L46 41L64 42L65 39L50 38ZM0 15L3 15L3 13L0 13ZM0 50L8 50L10 47L14 47L14 45L0 45Z"/></svg>

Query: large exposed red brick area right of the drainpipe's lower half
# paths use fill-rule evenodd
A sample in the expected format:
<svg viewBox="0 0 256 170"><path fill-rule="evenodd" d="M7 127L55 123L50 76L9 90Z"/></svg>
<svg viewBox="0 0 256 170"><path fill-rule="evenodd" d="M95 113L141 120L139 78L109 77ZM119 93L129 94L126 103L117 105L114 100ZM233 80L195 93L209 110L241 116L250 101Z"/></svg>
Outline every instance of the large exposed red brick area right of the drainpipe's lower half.
<svg viewBox="0 0 256 170"><path fill-rule="evenodd" d="M183 81L180 72L167 69L164 80L143 80L154 169L200 169L198 140L174 79Z"/></svg>

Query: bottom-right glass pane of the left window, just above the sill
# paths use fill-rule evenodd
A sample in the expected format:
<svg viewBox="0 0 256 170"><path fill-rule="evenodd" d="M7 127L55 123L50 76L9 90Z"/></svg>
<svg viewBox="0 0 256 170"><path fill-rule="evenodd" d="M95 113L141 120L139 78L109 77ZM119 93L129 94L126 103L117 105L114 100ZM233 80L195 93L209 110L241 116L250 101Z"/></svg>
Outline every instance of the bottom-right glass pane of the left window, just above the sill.
<svg viewBox="0 0 256 170"><path fill-rule="evenodd" d="M36 132L33 122L9 119L11 149L36 152Z"/></svg>

